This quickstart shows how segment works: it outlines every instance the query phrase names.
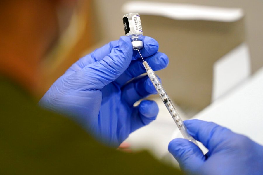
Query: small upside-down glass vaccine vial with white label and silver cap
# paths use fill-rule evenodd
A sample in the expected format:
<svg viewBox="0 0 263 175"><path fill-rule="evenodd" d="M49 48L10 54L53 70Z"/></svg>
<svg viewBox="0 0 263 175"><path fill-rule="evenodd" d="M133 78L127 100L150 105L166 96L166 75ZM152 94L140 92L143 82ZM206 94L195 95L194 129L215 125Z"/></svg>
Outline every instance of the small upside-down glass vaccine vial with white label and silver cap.
<svg viewBox="0 0 263 175"><path fill-rule="evenodd" d="M133 50L143 48L141 18L138 13L129 13L122 17L125 35L131 39Z"/></svg>

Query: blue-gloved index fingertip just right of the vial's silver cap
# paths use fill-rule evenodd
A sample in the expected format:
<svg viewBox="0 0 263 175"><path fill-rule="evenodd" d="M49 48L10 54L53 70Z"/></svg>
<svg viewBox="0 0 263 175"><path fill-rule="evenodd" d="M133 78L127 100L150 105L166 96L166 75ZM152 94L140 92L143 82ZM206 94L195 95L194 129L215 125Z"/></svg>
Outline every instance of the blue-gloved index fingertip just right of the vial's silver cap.
<svg viewBox="0 0 263 175"><path fill-rule="evenodd" d="M140 49L140 53L143 58L152 56L158 51L159 44L155 39L148 36L141 36L140 40L143 41L143 48ZM137 50L134 50L132 60L136 60L138 58L141 58L141 56Z"/></svg>

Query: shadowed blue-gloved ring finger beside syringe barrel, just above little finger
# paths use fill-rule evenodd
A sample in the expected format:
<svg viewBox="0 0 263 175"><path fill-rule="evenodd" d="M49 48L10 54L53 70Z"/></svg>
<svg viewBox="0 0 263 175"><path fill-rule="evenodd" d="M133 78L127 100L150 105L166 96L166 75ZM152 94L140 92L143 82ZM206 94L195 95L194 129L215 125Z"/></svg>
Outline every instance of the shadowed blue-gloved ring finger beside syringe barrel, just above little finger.
<svg viewBox="0 0 263 175"><path fill-rule="evenodd" d="M136 101L156 93L148 76L143 76L122 87L122 100L126 101L129 106L133 106Z"/></svg>

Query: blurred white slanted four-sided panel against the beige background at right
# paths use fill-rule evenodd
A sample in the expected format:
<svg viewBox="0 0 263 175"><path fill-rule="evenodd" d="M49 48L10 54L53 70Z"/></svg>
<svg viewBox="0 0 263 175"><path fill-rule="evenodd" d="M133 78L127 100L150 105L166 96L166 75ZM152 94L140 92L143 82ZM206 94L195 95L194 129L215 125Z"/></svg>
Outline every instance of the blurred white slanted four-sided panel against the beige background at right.
<svg viewBox="0 0 263 175"><path fill-rule="evenodd" d="M251 74L250 66L250 54L246 43L242 43L215 62L212 101L226 95L246 80Z"/></svg>

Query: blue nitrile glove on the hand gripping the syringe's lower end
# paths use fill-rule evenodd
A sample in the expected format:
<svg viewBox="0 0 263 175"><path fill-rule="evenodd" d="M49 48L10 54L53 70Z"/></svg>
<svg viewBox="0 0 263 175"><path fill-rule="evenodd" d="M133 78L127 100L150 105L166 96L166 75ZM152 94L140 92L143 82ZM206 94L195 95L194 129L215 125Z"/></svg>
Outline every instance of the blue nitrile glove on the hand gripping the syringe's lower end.
<svg viewBox="0 0 263 175"><path fill-rule="evenodd" d="M174 139L169 152L188 174L263 174L263 146L213 122L186 120L191 136L209 150L206 155L186 139Z"/></svg>

